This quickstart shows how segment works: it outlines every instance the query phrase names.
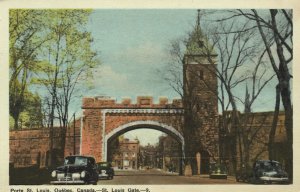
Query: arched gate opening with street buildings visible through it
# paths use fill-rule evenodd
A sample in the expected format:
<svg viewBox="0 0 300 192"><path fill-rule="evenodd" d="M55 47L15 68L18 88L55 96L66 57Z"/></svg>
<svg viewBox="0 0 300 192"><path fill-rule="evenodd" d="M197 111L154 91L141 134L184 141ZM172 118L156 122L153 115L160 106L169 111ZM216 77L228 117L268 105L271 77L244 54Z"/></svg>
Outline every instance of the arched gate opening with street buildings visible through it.
<svg viewBox="0 0 300 192"><path fill-rule="evenodd" d="M115 169L154 169L182 174L184 139L161 124L122 126L106 137L107 161Z"/></svg>

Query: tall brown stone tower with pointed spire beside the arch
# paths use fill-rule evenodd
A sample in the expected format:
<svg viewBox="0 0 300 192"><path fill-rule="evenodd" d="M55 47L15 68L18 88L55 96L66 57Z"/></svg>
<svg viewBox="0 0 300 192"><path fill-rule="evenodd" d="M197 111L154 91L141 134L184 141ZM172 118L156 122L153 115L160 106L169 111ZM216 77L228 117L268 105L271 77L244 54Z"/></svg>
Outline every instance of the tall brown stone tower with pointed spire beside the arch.
<svg viewBox="0 0 300 192"><path fill-rule="evenodd" d="M200 163L190 162L193 174L207 173L209 162L218 159L216 58L217 54L201 31L198 11L183 61L186 153L189 157L200 154Z"/></svg>

